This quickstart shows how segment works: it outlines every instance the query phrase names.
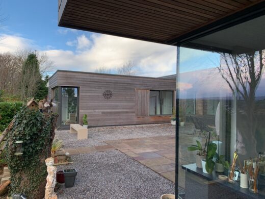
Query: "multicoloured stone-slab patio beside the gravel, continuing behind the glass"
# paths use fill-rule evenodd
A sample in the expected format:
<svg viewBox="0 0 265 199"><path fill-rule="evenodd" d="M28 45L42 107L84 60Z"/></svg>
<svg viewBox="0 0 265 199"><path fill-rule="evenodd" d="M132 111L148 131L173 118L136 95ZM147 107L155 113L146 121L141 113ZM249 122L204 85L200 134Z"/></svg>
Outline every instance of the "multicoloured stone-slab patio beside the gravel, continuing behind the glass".
<svg viewBox="0 0 265 199"><path fill-rule="evenodd" d="M195 162L195 153L187 147L194 144L198 137L180 134L179 136L179 186L185 187L185 172L181 165ZM163 177L175 182L175 136L155 136L136 139L105 141L120 152L144 164Z"/></svg>

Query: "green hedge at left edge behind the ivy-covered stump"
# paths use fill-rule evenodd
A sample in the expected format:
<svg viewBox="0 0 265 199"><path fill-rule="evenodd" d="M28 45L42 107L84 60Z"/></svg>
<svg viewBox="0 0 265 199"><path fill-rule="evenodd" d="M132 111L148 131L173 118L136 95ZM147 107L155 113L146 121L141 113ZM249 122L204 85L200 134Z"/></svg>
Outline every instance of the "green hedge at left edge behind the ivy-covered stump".
<svg viewBox="0 0 265 199"><path fill-rule="evenodd" d="M0 102L0 132L7 128L22 106L22 102Z"/></svg>

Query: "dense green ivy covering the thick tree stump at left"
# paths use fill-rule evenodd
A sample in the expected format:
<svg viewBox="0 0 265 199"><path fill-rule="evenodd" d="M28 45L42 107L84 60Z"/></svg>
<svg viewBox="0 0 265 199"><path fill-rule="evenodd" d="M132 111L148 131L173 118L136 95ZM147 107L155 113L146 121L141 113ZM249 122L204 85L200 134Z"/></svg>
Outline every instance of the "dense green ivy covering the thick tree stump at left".
<svg viewBox="0 0 265 199"><path fill-rule="evenodd" d="M45 159L50 157L50 143L57 115L23 107L15 116L7 139L7 162L11 173L11 191L28 198L42 198L45 187ZM22 140L21 156L15 156L18 140Z"/></svg>

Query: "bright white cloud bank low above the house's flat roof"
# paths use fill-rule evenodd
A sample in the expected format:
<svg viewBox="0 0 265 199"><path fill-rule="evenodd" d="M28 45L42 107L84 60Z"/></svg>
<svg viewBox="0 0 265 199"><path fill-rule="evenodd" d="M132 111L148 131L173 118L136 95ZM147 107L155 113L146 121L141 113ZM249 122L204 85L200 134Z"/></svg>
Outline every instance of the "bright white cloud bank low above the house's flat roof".
<svg viewBox="0 0 265 199"><path fill-rule="evenodd" d="M17 47L32 48L34 45L29 39L10 35L0 42L0 52L14 52ZM140 76L161 77L176 72L174 46L101 34L92 34L90 38L77 36L67 45L75 46L75 51L56 48L42 51L54 62L55 70L94 72L96 68L105 66L115 71L116 67L130 60Z"/></svg>

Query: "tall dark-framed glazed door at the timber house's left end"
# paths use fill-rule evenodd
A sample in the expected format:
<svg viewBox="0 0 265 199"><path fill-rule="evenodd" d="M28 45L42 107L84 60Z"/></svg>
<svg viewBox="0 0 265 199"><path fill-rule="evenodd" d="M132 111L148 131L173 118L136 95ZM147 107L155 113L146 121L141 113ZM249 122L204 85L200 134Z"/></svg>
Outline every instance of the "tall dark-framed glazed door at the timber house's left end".
<svg viewBox="0 0 265 199"><path fill-rule="evenodd" d="M77 123L78 89L76 87L62 87L61 104L62 125Z"/></svg>

